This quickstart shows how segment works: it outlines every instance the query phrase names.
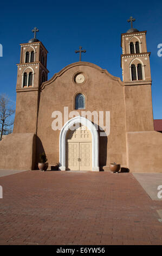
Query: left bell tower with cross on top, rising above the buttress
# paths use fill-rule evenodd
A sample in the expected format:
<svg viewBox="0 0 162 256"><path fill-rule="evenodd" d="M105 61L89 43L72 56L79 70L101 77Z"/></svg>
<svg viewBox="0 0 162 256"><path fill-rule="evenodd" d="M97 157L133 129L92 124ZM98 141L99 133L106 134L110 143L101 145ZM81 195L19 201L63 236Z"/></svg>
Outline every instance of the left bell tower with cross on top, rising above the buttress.
<svg viewBox="0 0 162 256"><path fill-rule="evenodd" d="M20 63L17 64L15 133L37 133L37 114L40 86L48 80L47 53L42 42L34 38L21 45Z"/></svg>

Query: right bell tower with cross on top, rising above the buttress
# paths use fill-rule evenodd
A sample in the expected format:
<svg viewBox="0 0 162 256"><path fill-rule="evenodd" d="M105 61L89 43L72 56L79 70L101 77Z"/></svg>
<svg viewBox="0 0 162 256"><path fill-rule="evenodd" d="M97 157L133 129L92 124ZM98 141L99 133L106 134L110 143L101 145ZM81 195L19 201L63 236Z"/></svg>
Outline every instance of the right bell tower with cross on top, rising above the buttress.
<svg viewBox="0 0 162 256"><path fill-rule="evenodd" d="M131 28L121 34L121 68L124 82L126 131L153 131L150 52L146 47L146 31Z"/></svg>

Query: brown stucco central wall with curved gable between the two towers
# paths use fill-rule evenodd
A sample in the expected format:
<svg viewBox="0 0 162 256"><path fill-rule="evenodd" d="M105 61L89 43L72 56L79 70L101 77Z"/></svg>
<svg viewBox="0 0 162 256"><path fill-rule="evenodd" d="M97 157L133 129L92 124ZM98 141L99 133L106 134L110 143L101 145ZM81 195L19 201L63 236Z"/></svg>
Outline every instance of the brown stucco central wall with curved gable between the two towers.
<svg viewBox="0 0 162 256"><path fill-rule="evenodd" d="M85 83L76 84L74 82L73 77L77 72L82 72L85 75ZM124 86L120 78L108 74L107 71L92 63L83 62L70 64L51 80L43 83L37 136L47 154L49 163L59 162L60 130L52 130L51 124L54 118L51 118L51 114L54 111L60 111L63 114L65 106L68 107L69 112L74 111L77 93L83 93L86 97L86 108L82 111L97 111L98 113L103 111L104 117L105 111L110 112L110 134L99 137L100 166L106 166L109 162L126 164ZM77 109L77 111L81 115L81 110ZM94 120L92 119L92 121ZM105 118L103 121L105 124Z"/></svg>

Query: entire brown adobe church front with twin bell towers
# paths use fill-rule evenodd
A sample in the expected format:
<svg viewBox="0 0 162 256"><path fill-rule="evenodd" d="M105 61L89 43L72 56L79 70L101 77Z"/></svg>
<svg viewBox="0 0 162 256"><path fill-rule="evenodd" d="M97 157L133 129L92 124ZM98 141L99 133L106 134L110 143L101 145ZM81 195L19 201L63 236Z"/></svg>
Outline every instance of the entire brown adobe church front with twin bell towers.
<svg viewBox="0 0 162 256"><path fill-rule="evenodd" d="M162 135L153 127L146 31L132 27L121 34L121 47L122 81L82 61L48 80L48 51L42 42L34 36L21 44L14 131L0 142L1 169L37 169L39 155L45 152L49 168L59 163L60 170L108 170L109 163L116 162L130 172L162 172ZM98 119L103 113L101 125L94 111ZM59 113L62 124L55 129ZM92 113L91 120L87 113ZM109 132L101 136L106 113Z"/></svg>

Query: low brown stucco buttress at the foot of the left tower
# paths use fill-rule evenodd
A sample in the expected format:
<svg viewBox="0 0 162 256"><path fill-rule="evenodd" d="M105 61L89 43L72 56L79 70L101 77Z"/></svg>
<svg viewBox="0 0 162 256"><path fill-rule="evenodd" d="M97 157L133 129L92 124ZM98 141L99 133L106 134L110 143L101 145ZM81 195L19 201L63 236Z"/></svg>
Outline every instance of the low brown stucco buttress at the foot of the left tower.
<svg viewBox="0 0 162 256"><path fill-rule="evenodd" d="M33 133L11 133L0 142L0 169L34 169L35 135Z"/></svg>

